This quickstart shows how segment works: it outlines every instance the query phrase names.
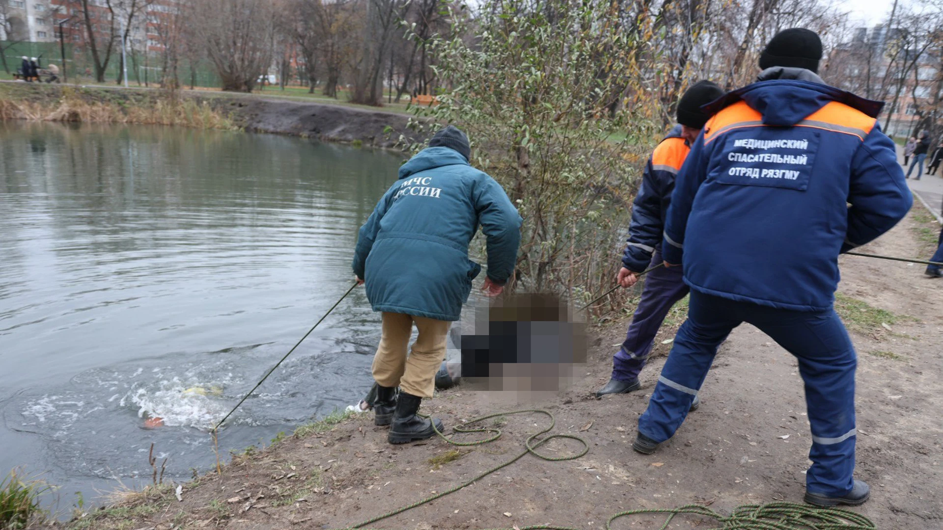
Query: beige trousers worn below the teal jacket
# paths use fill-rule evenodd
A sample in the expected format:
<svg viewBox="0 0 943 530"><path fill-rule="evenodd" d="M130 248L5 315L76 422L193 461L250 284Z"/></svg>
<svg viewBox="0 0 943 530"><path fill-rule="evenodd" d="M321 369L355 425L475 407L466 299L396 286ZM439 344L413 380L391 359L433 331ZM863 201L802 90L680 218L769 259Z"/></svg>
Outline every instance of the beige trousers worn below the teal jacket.
<svg viewBox="0 0 943 530"><path fill-rule="evenodd" d="M416 323L419 338L412 353L406 356L412 326ZM381 387L399 387L407 394L432 397L436 389L436 373L445 358L448 321L414 317L403 313L383 313L383 337L373 357L373 379Z"/></svg>

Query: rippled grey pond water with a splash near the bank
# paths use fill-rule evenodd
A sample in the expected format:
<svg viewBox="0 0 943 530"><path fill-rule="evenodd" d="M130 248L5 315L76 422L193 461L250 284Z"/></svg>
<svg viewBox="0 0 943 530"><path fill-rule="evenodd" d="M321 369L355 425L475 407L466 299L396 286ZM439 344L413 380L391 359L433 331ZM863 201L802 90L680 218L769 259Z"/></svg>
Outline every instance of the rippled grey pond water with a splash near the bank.
<svg viewBox="0 0 943 530"><path fill-rule="evenodd" d="M347 290L401 157L167 127L0 123L0 475L85 499L206 470L222 418ZM230 420L221 452L354 403L362 290ZM164 426L148 429L151 416Z"/></svg>

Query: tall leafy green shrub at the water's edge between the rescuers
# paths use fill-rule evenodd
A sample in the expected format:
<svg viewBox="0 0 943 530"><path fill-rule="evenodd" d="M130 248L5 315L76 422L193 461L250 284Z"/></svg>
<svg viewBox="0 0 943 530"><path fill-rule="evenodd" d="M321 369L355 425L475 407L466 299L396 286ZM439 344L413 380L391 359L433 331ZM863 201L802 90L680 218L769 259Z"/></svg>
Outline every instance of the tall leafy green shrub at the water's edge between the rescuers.
<svg viewBox="0 0 943 530"><path fill-rule="evenodd" d="M472 164L521 211L517 286L587 301L614 284L631 201L663 132L637 68L653 52L615 3L486 0L473 17L452 16L450 36L429 42L448 89L414 124L426 136L443 123L464 129Z"/></svg>

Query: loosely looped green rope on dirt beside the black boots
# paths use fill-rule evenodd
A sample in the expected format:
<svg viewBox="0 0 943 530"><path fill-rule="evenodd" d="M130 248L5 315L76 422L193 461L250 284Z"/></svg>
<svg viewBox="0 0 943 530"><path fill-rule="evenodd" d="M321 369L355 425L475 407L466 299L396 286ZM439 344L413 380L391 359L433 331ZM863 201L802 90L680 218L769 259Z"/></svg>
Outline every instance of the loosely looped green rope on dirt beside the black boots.
<svg viewBox="0 0 943 530"><path fill-rule="evenodd" d="M536 413L539 413L539 414L546 414L546 415L550 418L550 426L547 427L547 428L545 428L545 429L543 429L542 431L540 431L540 432L538 432L538 433L536 433L536 434L533 434L533 435L531 435L530 437L528 437L528 438L524 441L524 450L521 451L521 453L520 453L519 455L514 456L514 457L511 458L510 460L507 460L506 462L504 462L504 463L502 463L502 464L499 464L499 465L497 465L497 466L495 466L495 467L489 469L489 470L486 471L486 472L481 472L481 473L479 473L478 475L476 475L476 476L475 476L474 478L472 478L471 480L468 480L468 481L466 481L466 482L464 482L464 483L462 483L462 484L459 484L458 486L455 486L455 487L450 488L450 489L446 489L445 491L442 491L441 493L437 493L437 494L435 494L435 495L433 495L433 496L431 496L431 497L427 497L427 498L422 499L421 501L415 502L415 503L413 503L413 504L411 504L411 505L405 505L405 506L403 506L403 507L401 507L401 508L396 508L395 510L393 510L393 511L391 511L391 512L389 512L389 513L385 513L385 514L383 514L383 515L380 515L380 516L374 517L374 518L372 518L372 519L369 519L369 520L367 520L367 521L361 522L361 523L359 523L359 524L356 524L356 525L354 525L354 526L351 526L350 528L352 528L352 529L353 529L353 528L363 528L364 526L366 526L366 525L368 525L368 524L372 524L373 522L382 521L382 520L387 519L387 518L389 518L389 517L392 517L392 516L394 516L394 515L401 514L401 513L405 512L406 510L410 510L410 509L415 508L415 507L417 507L417 506L421 506L421 505L425 505L425 504L427 504L427 503L431 503L432 501L435 501L436 499L440 499L440 498L442 498L442 497L444 497L444 496L446 496L446 495L448 495L448 494L450 494L450 493L455 493L455 491L458 491L459 489L463 489L463 488L467 488L467 487L469 487L469 486L472 486L472 484L474 484L475 482L477 482L477 481L479 481L479 480L485 478L485 477L488 476L489 474L491 474L491 473L493 473L493 472L496 472L496 471L498 471L498 470L500 470L500 469L503 469L503 468L505 468L505 467L507 467L507 466L513 464L514 462L517 462L518 460L521 459L521 457L523 457L524 455L527 455L528 453L531 454L531 455L535 455L535 456L537 456L538 458L543 459L543 460L549 460L549 461L551 461L551 462L559 462L559 461L563 461L563 460L575 460L576 458L579 458L580 456L586 455L586 454L589 452L589 444L587 443L587 440L582 439L582 438L580 438L580 437L578 437L578 436L575 436L575 435L555 434L555 435L547 436L547 437L545 437L545 438L539 438L541 435L547 434L547 433L549 433L550 431L552 431L552 430L554 429L554 425L556 424L556 419L554 418L554 415L551 414L550 412L548 412L548 411L546 411L546 410L541 410L541 409L538 409L538 408L532 408L532 409L527 409L527 410L514 410L514 411L512 411L512 412L496 412L496 413L494 413L494 414L488 414L488 415L486 415L486 416L479 416L478 418L475 418L474 420L471 420L471 421L469 421L469 422L465 422L465 423L463 423L463 424L461 424L461 425L457 425L457 426L455 426L454 429L453 429L453 430L455 430L455 433L456 433L456 434L490 433L491 436L488 436L488 438L486 438L486 439L479 439L479 440L474 440L474 441L455 441L454 439L450 439L450 438L446 437L445 435L443 435L442 433L438 432L438 429L436 429L435 422L433 422L433 427L432 427L432 428L435 429L436 434L438 435L438 437L441 438L441 439L444 439L444 440L446 441L446 443L450 443L450 444L452 444L452 445L456 445L456 446L459 446L459 447L469 447L469 446L472 446L472 445L482 445L482 444L489 443L489 442L492 442L492 441L494 441L494 440L496 440L496 439L501 438L501 434L502 434L502 433L501 433L501 429L499 429L499 428L496 427L496 426L490 426L490 427L484 427L484 426L483 426L483 427L471 427L472 424L477 423L477 422L484 422L485 420L489 420L489 419L491 419L491 418L497 418L497 417L500 417L500 416L510 416L510 415L512 415L512 414L525 414L525 413L528 413L528 412L536 412ZM547 455L540 455L540 454L537 452L537 448L540 447L541 445L543 445L544 443L547 443L548 441L550 441L550 440L552 440L552 439L575 439L575 440L577 440L577 441L579 441L580 443L583 444L583 451L581 451L578 455L569 455L569 456L547 456ZM542 525L542 524L538 524L538 525L536 525L536 526L521 526L520 528L521 528L521 530L528 530L528 529L531 529L531 530L538 530L538 529L543 529L543 530L576 530L576 529L574 529L574 528L570 528L570 527L566 527L566 526L549 526L549 525Z"/></svg>

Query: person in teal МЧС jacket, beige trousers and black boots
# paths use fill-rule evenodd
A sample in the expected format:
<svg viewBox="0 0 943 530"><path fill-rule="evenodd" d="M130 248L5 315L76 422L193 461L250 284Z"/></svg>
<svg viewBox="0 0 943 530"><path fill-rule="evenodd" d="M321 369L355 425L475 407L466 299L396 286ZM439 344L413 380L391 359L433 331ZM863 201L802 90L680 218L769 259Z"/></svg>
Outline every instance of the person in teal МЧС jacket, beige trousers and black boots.
<svg viewBox="0 0 943 530"><path fill-rule="evenodd" d="M458 320L481 271L468 257L478 226L487 238L489 295L501 293L517 264L521 216L505 190L472 168L469 157L465 133L453 125L442 129L400 168L399 179L360 228L354 273L366 283L373 310L383 313L372 368L379 385L375 422L392 422L391 443L435 434L432 422L416 411L423 397L432 397L449 325ZM413 324L419 338L406 356Z"/></svg>

